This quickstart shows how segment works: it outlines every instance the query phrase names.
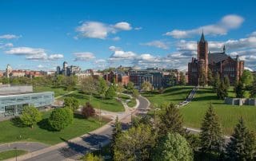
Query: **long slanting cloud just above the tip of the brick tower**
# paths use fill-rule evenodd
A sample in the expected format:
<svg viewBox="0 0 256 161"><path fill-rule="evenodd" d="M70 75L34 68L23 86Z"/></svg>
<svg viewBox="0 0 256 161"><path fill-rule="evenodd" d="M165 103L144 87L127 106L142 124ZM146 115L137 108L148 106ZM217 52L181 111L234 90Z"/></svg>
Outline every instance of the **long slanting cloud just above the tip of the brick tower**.
<svg viewBox="0 0 256 161"><path fill-rule="evenodd" d="M230 29L236 29L241 26L242 22L244 22L244 18L235 14L230 14L224 16L219 22L215 24L200 26L196 29L188 30L174 29L165 33L164 35L174 38L188 38L201 34L202 29L205 35L226 35Z"/></svg>

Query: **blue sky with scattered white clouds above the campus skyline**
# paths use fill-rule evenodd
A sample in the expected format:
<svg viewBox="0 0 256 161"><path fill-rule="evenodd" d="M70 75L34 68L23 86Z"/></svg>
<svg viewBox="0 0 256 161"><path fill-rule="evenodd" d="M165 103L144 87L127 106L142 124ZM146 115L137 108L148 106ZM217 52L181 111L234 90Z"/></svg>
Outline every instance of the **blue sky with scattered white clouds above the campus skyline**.
<svg viewBox="0 0 256 161"><path fill-rule="evenodd" d="M0 2L0 69L136 65L186 69L202 28L210 51L256 62L255 1Z"/></svg>

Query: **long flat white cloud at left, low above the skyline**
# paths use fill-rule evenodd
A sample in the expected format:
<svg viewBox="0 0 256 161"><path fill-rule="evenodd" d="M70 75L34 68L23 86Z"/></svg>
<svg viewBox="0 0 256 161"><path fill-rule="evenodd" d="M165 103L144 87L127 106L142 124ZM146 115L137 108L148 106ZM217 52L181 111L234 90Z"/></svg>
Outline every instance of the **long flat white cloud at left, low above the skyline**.
<svg viewBox="0 0 256 161"><path fill-rule="evenodd" d="M17 47L6 50L5 53L10 55L25 56L27 60L36 61L54 61L63 57L62 54L52 54L48 56L45 49Z"/></svg>

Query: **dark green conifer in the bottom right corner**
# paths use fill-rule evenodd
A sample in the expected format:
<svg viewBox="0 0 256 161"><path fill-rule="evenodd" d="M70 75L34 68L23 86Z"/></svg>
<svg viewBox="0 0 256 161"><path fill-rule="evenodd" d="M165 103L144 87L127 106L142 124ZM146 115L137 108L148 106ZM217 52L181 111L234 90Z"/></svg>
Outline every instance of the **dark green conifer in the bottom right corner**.
<svg viewBox="0 0 256 161"><path fill-rule="evenodd" d="M255 135L248 131L242 117L230 137L226 154L230 160L254 160L256 157Z"/></svg>

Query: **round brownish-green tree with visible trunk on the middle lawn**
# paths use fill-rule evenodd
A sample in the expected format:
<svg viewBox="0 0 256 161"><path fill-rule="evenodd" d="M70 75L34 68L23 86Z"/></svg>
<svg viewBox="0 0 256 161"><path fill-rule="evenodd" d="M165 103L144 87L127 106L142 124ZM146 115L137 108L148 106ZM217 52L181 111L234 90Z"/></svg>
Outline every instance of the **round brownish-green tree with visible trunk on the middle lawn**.
<svg viewBox="0 0 256 161"><path fill-rule="evenodd" d="M82 91L85 93L89 93L90 100L91 100L93 93L97 89L97 81L94 79L94 77L91 77L91 76L85 77L82 79L81 85L82 85Z"/></svg>

